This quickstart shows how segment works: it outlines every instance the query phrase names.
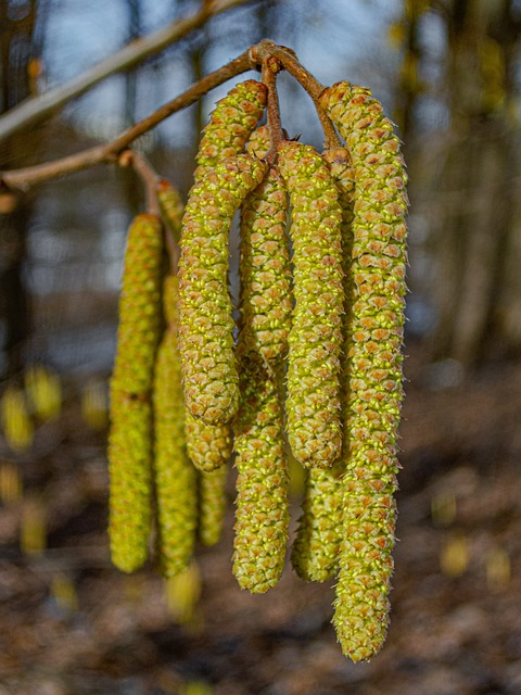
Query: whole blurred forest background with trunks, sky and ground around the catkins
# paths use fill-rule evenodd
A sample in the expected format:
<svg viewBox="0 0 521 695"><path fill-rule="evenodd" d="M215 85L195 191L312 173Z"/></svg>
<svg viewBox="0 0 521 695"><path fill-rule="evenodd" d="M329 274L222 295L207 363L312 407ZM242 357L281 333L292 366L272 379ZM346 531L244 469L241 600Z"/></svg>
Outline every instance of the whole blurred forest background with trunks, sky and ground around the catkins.
<svg viewBox="0 0 521 695"><path fill-rule="evenodd" d="M231 492L225 539L182 581L111 567L106 380L126 228L143 197L131 172L97 166L0 188L0 695L521 693L521 2L229 2L94 77L125 45L219 4L0 0L0 169L111 140L263 38L322 84L348 79L382 101L411 202L387 643L348 664L330 586L289 568L266 596L240 592ZM85 93L45 110L43 94L79 76L91 78ZM319 147L309 100L280 83L290 137ZM229 86L138 141L185 194ZM297 477L292 495L296 508Z"/></svg>

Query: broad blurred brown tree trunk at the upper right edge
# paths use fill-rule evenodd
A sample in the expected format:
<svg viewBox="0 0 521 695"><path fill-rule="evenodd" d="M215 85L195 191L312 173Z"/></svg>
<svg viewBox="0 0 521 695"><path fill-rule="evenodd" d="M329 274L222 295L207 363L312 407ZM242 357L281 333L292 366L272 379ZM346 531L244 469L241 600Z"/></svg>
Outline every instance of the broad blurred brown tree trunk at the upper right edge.
<svg viewBox="0 0 521 695"><path fill-rule="evenodd" d="M511 0L453 0L444 8L450 124L437 197L434 354L471 366L499 338L505 344L513 338L500 333L498 306L512 252L518 156L509 106L520 33Z"/></svg>

